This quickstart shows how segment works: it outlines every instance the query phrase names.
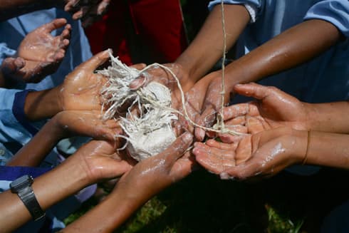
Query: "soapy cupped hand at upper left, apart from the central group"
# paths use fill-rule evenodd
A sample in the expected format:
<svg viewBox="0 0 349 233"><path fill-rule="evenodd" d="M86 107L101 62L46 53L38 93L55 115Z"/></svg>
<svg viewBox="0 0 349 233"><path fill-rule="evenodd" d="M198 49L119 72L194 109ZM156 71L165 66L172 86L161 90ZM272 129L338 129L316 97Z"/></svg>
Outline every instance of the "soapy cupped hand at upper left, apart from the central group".
<svg viewBox="0 0 349 233"><path fill-rule="evenodd" d="M16 81L38 83L56 72L64 58L71 35L71 25L66 19L55 19L38 27L24 38L19 45L17 58L6 58L1 64L4 76ZM66 25L59 36L51 32Z"/></svg>

